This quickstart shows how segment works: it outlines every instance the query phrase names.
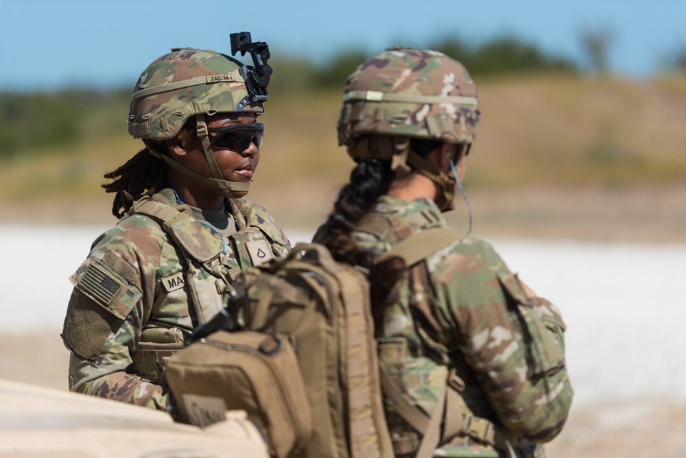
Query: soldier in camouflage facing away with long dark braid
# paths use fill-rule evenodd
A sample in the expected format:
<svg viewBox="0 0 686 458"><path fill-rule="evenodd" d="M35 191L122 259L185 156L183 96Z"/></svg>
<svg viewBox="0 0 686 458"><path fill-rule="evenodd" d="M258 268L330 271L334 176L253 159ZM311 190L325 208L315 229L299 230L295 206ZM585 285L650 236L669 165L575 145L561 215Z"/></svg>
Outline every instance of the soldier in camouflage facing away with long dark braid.
<svg viewBox="0 0 686 458"><path fill-rule="evenodd" d="M343 102L338 140L357 167L315 241L370 269L383 368L426 415L445 387L462 404L460 426L442 422L434 456L545 456L540 444L558 435L573 396L565 324L491 245L442 217L462 191L480 119L474 82L442 53L388 49L348 77ZM373 263L436 228L442 248L414 267ZM389 399L386 417L397 456L417 454L423 431Z"/></svg>

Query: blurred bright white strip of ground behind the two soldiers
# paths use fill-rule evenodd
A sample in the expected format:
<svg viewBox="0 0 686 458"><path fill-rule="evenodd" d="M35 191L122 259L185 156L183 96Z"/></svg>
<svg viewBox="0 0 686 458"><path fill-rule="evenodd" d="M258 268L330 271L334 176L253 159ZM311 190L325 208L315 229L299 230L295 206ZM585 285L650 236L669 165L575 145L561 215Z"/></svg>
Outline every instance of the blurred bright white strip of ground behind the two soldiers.
<svg viewBox="0 0 686 458"><path fill-rule="evenodd" d="M0 331L58 330L97 226L1 226ZM293 243L306 232L288 232ZM576 404L686 397L686 245L489 240L567 322Z"/></svg>

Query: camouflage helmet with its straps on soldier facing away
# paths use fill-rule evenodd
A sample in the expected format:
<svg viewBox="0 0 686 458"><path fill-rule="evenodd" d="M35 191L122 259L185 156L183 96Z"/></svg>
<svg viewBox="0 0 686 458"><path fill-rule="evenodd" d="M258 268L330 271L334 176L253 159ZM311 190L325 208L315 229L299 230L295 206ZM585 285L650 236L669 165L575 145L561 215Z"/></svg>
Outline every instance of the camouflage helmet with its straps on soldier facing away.
<svg viewBox="0 0 686 458"><path fill-rule="evenodd" d="M479 118L476 86L460 62L438 51L390 48L348 77L338 144L348 146L355 162L388 160L400 175L414 169L427 176L440 191L438 208L451 210L457 174L412 151L410 140L458 144L467 154Z"/></svg>

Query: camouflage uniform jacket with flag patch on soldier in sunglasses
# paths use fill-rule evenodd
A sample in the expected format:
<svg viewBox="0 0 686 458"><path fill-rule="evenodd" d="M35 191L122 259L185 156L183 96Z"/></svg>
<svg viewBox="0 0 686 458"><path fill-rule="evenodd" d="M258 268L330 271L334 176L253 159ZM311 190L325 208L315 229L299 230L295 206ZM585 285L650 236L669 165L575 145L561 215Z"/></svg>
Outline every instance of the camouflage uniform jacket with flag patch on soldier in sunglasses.
<svg viewBox="0 0 686 458"><path fill-rule="evenodd" d="M171 411L168 357L220 310L238 270L285 256L290 244L265 208L246 200L226 201L237 232L221 235L169 189L150 199L176 215L167 230L137 213L146 200L93 243L71 276L62 339L72 353L70 389Z"/></svg>

